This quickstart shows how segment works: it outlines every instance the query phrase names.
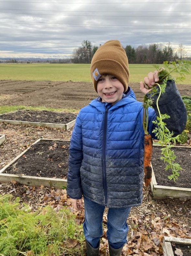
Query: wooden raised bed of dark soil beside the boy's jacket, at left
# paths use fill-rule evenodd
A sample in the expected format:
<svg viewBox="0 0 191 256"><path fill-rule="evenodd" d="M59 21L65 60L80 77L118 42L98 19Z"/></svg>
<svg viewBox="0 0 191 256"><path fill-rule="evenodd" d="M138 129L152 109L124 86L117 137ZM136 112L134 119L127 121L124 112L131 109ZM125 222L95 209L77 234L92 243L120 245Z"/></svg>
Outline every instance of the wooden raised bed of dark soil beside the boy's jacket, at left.
<svg viewBox="0 0 191 256"><path fill-rule="evenodd" d="M66 187L69 145L64 140L37 140L0 170L0 182Z"/></svg>

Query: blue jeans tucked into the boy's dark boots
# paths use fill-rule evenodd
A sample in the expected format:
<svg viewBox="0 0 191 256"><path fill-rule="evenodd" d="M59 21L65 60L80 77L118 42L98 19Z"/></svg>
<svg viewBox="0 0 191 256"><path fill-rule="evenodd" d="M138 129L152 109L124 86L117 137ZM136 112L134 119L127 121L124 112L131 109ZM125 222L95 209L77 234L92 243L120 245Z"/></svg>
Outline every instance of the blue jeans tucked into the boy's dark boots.
<svg viewBox="0 0 191 256"><path fill-rule="evenodd" d="M127 218L131 208L109 208L107 214L107 239L114 249L121 248L127 242ZM103 235L103 214L105 206L84 197L85 222L83 224L85 239L93 248L99 245Z"/></svg>

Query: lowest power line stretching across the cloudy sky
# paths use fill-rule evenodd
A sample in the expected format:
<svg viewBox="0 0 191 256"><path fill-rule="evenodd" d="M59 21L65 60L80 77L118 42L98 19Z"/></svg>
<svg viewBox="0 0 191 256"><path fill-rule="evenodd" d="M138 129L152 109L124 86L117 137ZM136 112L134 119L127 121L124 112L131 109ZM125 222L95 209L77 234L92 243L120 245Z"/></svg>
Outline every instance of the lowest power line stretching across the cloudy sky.
<svg viewBox="0 0 191 256"><path fill-rule="evenodd" d="M61 26L61 27L91 27L91 28L148 28L148 29L190 29L191 26L142 26L142 25L104 25L104 24L71 24L71 23L46 23L46 22L33 22L33 21L24 21L24 22L19 22L15 20L1 20L2 22L6 23L12 23L12 24L23 24L23 25L28 25L28 24L34 24L34 25L48 25L48 26Z"/></svg>

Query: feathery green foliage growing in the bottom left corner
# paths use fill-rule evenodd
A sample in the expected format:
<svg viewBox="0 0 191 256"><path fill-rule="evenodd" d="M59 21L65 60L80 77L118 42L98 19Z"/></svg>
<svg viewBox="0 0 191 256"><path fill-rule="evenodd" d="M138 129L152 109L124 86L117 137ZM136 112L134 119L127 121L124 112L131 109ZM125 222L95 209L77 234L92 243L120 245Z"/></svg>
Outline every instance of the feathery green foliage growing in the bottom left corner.
<svg viewBox="0 0 191 256"><path fill-rule="evenodd" d="M19 255L83 255L83 246L67 247L69 238L84 242L82 226L75 216L63 208L59 212L50 206L31 212L28 205L20 209L19 198L0 197L0 252L4 256ZM30 254L29 254L30 252ZM28 253L28 254L27 254Z"/></svg>

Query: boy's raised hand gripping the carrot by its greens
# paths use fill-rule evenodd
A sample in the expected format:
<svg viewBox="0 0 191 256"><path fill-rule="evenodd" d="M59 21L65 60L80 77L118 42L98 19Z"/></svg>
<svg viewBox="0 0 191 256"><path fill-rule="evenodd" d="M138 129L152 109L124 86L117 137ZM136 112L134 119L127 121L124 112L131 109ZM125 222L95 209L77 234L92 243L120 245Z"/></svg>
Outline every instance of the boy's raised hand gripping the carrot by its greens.
<svg viewBox="0 0 191 256"><path fill-rule="evenodd" d="M150 90L152 90L152 86L159 81L158 74L158 71L154 71L154 73L150 72L148 76L144 78L144 83L142 81L140 82L141 92L147 94Z"/></svg>

